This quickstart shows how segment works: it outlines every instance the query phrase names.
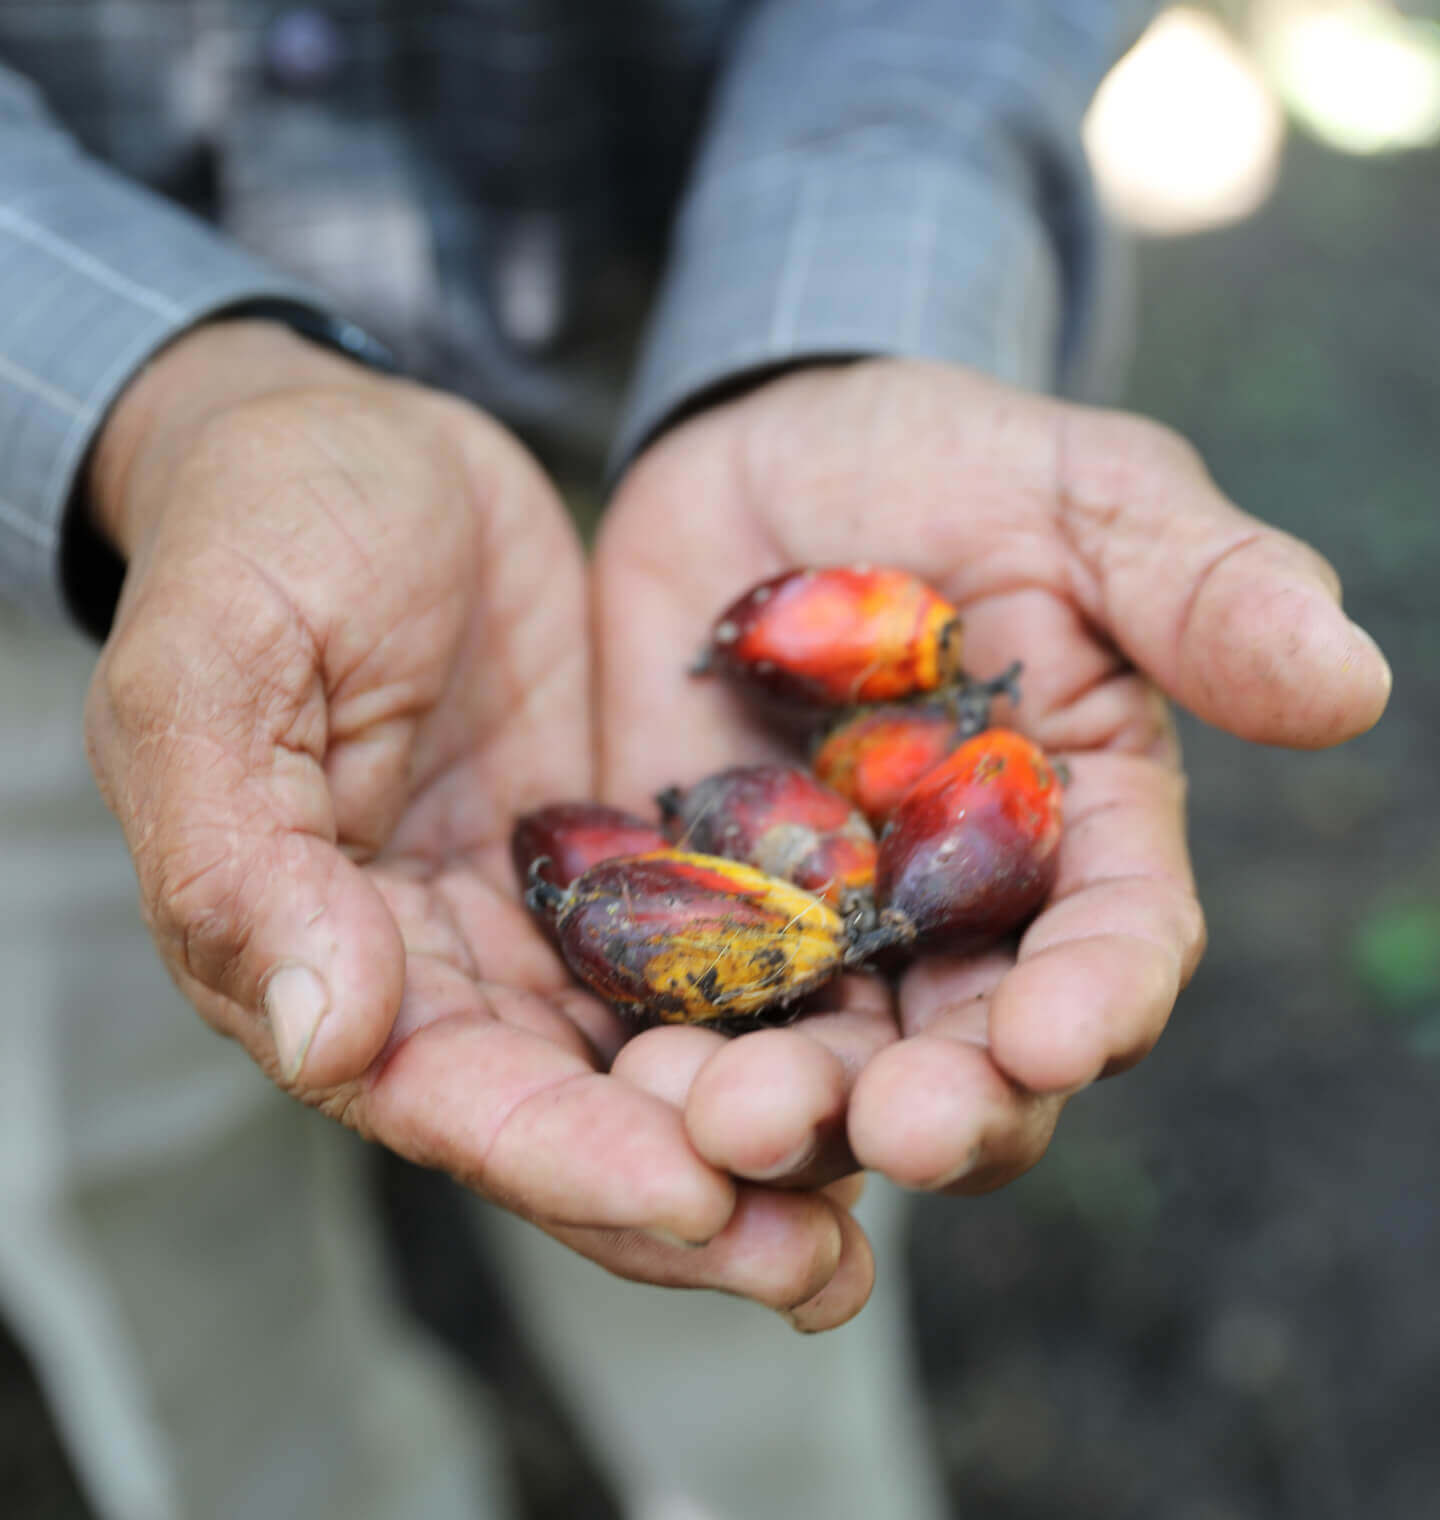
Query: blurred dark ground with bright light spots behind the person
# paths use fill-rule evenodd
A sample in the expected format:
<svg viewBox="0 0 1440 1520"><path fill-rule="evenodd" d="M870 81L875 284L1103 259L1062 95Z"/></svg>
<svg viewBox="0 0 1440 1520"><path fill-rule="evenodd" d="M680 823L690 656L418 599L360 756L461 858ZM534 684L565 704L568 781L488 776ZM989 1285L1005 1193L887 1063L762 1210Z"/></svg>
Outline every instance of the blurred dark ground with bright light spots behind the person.
<svg viewBox="0 0 1440 1520"><path fill-rule="evenodd" d="M1323 754L1183 720L1212 947L1051 1155L915 1216L928 1404L967 1520L1440 1512L1440 3L1166 11L1087 147L1134 234L1124 404L1340 568L1396 673ZM382 1184L415 1309L499 1383L535 1520L614 1514L476 1310L446 1184ZM0 1330L0 1511L88 1511Z"/></svg>

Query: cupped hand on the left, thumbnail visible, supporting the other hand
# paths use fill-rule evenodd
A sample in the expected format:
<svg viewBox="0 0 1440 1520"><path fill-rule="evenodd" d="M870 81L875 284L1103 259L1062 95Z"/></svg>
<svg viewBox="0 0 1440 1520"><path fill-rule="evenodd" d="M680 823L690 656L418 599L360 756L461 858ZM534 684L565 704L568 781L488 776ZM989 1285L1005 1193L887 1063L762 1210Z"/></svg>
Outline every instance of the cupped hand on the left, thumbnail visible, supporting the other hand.
<svg viewBox="0 0 1440 1520"><path fill-rule="evenodd" d="M128 562L90 755L205 1020L613 1272L809 1330L855 1315L855 1184L704 1161L686 1041L643 1084L607 1075L625 1031L520 904L512 819L592 795L584 564L525 451L461 401L230 322L131 385L90 488Z"/></svg>

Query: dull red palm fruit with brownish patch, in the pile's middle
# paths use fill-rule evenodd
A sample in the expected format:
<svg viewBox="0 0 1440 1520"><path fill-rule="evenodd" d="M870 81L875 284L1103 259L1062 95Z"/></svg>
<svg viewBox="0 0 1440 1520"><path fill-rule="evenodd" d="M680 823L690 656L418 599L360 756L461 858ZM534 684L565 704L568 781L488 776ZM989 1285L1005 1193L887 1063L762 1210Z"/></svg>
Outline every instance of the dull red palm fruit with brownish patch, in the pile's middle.
<svg viewBox="0 0 1440 1520"><path fill-rule="evenodd" d="M742 765L657 798L683 850L744 860L841 912L874 886L874 834L838 792L794 765Z"/></svg>

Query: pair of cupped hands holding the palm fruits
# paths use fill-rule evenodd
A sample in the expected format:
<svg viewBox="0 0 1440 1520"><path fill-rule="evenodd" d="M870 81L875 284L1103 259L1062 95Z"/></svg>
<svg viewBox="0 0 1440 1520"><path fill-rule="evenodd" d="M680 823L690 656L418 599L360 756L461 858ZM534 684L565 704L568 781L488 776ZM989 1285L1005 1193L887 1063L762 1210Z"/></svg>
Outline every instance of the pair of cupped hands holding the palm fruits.
<svg viewBox="0 0 1440 1520"><path fill-rule="evenodd" d="M1172 433L953 366L677 424L588 567L494 421L265 322L172 345L88 483L128 561L90 754L205 1020L610 1271L801 1330L870 1292L864 1170L996 1187L1160 1034L1204 941L1168 699L1317 748L1390 689L1331 567ZM789 1028L634 1034L528 918L511 824L780 755L687 667L756 581L865 561L961 608L975 675L1023 661L1013 720L1072 775L1052 900L1017 950L845 977Z"/></svg>

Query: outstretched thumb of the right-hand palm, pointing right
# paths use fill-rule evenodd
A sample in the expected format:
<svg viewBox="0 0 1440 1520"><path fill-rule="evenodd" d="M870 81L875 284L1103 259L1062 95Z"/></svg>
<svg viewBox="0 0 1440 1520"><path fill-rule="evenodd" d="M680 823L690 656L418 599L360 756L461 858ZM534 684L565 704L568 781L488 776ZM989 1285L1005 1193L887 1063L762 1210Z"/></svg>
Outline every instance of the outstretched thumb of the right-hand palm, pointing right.
<svg viewBox="0 0 1440 1520"><path fill-rule="evenodd" d="M1169 429L1067 412L1063 526L1121 649L1242 739L1320 749L1378 722L1390 667L1329 562L1226 500Z"/></svg>

